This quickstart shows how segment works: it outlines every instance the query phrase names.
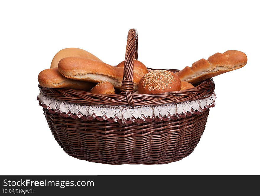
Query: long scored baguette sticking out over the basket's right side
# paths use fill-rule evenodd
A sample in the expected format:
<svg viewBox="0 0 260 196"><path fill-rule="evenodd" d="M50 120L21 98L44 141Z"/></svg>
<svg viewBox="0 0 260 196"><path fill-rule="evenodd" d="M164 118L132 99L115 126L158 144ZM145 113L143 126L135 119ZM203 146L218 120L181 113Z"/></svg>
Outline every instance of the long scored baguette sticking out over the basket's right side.
<svg viewBox="0 0 260 196"><path fill-rule="evenodd" d="M191 67L187 66L179 71L178 76L181 81L196 84L205 79L244 67L246 63L246 54L237 50L228 50L223 54L216 53L207 60L198 60Z"/></svg>

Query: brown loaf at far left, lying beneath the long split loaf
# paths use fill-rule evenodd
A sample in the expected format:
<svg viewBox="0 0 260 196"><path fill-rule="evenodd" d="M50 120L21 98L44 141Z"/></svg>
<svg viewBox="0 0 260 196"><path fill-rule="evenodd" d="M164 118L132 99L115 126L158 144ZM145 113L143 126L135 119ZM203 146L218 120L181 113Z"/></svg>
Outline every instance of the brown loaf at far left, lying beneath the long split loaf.
<svg viewBox="0 0 260 196"><path fill-rule="evenodd" d="M48 88L71 88L79 90L90 90L95 84L72 80L64 77L58 68L45 69L38 75L38 82L42 87Z"/></svg>

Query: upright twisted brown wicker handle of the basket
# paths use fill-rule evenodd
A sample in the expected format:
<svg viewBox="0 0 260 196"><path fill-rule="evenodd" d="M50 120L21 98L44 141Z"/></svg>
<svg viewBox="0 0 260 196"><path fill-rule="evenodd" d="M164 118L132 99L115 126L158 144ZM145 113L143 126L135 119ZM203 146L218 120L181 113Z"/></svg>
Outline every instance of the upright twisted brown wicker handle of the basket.
<svg viewBox="0 0 260 196"><path fill-rule="evenodd" d="M137 59L138 34L136 29L130 29L127 36L126 56L124 62L124 76L122 80L121 91L126 94L129 106L134 107L132 93L134 92L134 59Z"/></svg>

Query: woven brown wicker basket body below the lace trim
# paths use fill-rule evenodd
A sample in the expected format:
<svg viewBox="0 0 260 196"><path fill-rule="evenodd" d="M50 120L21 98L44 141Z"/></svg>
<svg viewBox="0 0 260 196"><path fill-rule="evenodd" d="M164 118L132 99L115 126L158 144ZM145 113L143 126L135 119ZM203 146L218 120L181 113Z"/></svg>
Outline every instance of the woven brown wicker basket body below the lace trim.
<svg viewBox="0 0 260 196"><path fill-rule="evenodd" d="M44 109L58 144L70 156L105 164L165 164L188 156L198 144L209 109L179 120L118 125L64 118Z"/></svg>

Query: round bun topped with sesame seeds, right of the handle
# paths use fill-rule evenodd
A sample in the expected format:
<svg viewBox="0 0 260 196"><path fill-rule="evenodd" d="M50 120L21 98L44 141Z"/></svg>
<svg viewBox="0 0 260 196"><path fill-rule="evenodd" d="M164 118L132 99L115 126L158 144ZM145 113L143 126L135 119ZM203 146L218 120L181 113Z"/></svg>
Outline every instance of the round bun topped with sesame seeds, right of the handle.
<svg viewBox="0 0 260 196"><path fill-rule="evenodd" d="M151 71L139 82L138 91L140 94L165 93L179 91L181 80L173 73L166 70Z"/></svg>

